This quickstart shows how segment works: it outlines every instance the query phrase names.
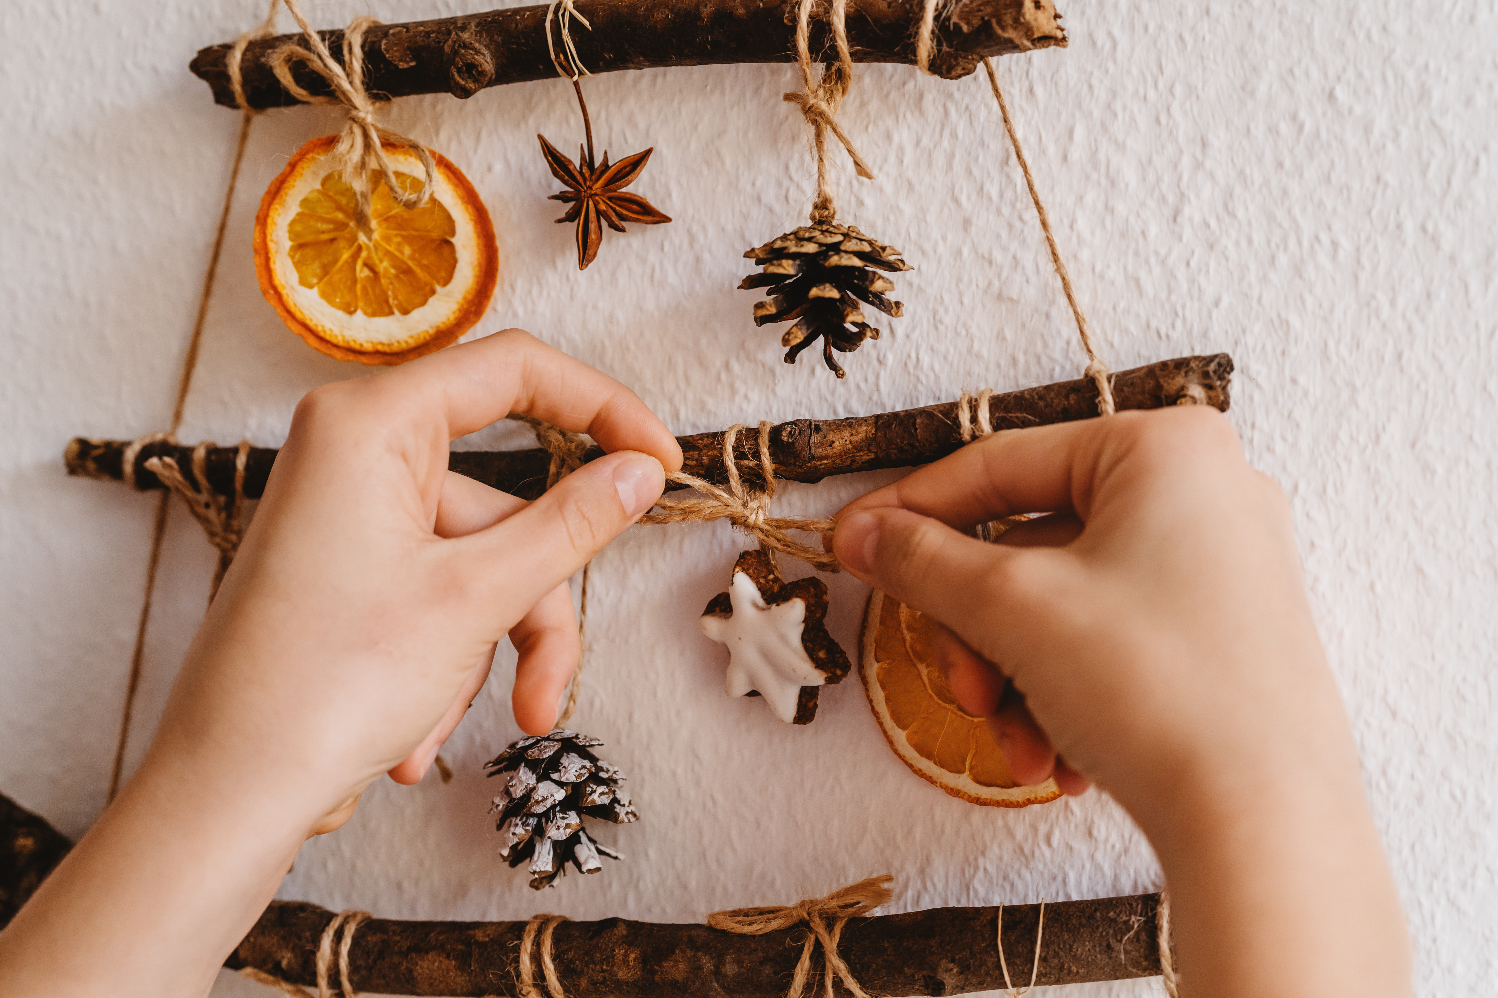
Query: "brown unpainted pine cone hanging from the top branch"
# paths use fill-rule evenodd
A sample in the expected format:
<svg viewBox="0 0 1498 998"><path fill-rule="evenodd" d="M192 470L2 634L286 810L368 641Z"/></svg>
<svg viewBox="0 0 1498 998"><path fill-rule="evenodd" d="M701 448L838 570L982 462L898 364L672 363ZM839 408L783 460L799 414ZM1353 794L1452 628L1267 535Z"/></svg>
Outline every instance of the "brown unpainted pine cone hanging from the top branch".
<svg viewBox="0 0 1498 998"><path fill-rule="evenodd" d="M739 284L740 290L773 287L773 296L753 307L753 322L797 320L780 337L785 362L806 347L822 341L822 359L837 377L846 371L833 359L833 350L852 353L864 340L878 340L879 331L869 325L863 305L873 305L885 316L899 319L905 305L885 298L894 281L879 271L909 271L894 247L876 242L855 226L836 221L813 221L779 239L749 250L745 256L758 260L761 271Z"/></svg>

